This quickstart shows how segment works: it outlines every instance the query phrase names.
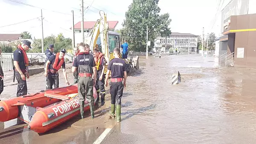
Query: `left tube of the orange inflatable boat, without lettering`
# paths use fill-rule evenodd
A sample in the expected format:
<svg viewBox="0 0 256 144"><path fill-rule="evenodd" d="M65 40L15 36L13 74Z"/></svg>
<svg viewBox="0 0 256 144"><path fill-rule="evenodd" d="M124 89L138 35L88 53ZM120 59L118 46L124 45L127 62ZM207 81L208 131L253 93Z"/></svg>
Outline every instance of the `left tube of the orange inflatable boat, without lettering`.
<svg viewBox="0 0 256 144"><path fill-rule="evenodd" d="M77 93L77 85L49 89L45 92L51 92L58 95L68 95ZM4 122L18 118L26 123L29 123L27 119L24 119L24 114L22 115L22 113L25 113L23 109L27 108L28 111L31 108L37 109L38 107L46 107L50 104L61 101L61 99L58 98L45 96L45 92L37 92L32 95L24 95L6 101L0 101L0 121Z"/></svg>

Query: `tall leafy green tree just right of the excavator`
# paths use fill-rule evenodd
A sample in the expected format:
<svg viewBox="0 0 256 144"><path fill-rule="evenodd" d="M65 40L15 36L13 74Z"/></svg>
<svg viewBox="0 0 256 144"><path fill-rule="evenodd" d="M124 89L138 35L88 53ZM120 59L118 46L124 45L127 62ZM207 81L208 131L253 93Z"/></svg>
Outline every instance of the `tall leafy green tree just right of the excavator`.
<svg viewBox="0 0 256 144"><path fill-rule="evenodd" d="M169 20L169 14L159 15L158 2L159 0L133 0L128 7L122 23L124 28L120 32L122 39L128 41L129 49L132 51L146 51L147 26L148 41L151 41L149 50L154 47L154 40L160 34L160 30L167 28L166 21Z"/></svg>

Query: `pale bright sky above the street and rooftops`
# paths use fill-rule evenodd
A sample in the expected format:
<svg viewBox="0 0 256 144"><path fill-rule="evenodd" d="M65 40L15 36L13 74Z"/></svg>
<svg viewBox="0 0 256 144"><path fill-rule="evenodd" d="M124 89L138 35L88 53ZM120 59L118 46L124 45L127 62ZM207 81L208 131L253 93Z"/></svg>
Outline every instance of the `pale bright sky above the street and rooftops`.
<svg viewBox="0 0 256 144"><path fill-rule="evenodd" d="M32 6L26 6L18 1ZM125 19L125 12L132 0L84 0L85 21L96 21L99 19L99 10L107 13L107 20L118 20L121 23ZM226 0L228 1L228 0ZM74 10L75 24L81 21L79 0L0 0L0 33L20 33L28 31L35 38L41 38L41 9L44 17L44 37L62 32L65 37L71 37L69 29L72 26L72 13ZM218 0L160 0L161 14L168 12L172 18L170 27L172 32L192 33L201 35L202 27L205 33L218 33L220 28L218 22L212 28L212 20L216 14ZM228 3L228 2L226 2ZM54 11L54 12L52 12ZM6 26L13 23L31 20L17 25ZM217 20L218 21L218 20ZM219 22L220 23L220 22ZM5 26L5 27L1 27ZM217 35L217 34L216 34Z"/></svg>

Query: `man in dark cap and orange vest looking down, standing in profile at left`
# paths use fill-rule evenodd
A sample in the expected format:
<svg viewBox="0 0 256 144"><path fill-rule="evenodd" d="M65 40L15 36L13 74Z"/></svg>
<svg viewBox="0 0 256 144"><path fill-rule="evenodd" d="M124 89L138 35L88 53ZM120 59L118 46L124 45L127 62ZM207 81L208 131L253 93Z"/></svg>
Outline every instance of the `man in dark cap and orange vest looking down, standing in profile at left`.
<svg viewBox="0 0 256 144"><path fill-rule="evenodd" d="M29 40L23 40L22 44L19 44L13 52L13 62L15 66L15 78L18 82L17 97L27 95L28 88L26 84L26 78L29 78L29 72L27 66L29 66L29 59L26 55L26 51L31 49L31 42Z"/></svg>

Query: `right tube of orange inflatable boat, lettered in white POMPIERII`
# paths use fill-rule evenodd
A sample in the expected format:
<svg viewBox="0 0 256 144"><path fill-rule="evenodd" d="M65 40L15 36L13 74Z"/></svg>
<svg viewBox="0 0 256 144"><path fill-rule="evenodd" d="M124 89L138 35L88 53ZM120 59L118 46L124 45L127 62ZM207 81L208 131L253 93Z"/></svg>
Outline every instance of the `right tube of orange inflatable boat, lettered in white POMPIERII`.
<svg viewBox="0 0 256 144"><path fill-rule="evenodd" d="M45 95L51 95L46 94ZM79 105L79 98L76 92L71 95L54 95L52 97L58 96L62 99L61 102L53 104L48 107L39 108L32 116L31 121L29 122L28 128L38 133L44 133L48 130L62 124L63 122L69 120L70 118L74 117L75 115L80 114L80 105ZM70 98L70 99L67 99ZM96 88L93 87L93 97L95 99L94 104L97 100L97 92ZM66 99L65 99L66 98ZM87 100L84 102L84 110L90 109Z"/></svg>

